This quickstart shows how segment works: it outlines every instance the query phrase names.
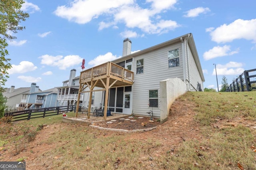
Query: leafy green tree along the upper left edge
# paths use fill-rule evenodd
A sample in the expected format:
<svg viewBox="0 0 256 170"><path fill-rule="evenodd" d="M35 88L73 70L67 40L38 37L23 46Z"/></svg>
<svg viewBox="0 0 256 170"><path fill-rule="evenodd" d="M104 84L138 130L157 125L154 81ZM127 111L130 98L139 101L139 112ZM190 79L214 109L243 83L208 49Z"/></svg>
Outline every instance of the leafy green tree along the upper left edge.
<svg viewBox="0 0 256 170"><path fill-rule="evenodd" d="M9 63L10 59L6 58L9 55L6 47L7 40L16 39L12 33L17 33L25 29L19 25L21 21L25 21L29 17L20 8L24 3L23 0L1 0L0 1L0 92L4 92L3 86L7 81L7 70L12 67Z"/></svg>

